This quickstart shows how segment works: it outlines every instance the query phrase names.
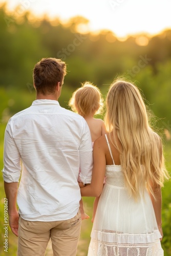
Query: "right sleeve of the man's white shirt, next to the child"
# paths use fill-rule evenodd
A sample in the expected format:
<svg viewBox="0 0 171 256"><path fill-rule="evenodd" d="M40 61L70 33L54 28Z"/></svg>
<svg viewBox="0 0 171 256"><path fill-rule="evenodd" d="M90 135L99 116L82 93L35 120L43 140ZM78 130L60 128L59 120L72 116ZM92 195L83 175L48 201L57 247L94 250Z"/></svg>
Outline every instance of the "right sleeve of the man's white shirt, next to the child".
<svg viewBox="0 0 171 256"><path fill-rule="evenodd" d="M91 183L93 169L93 147L89 126L83 119L83 132L79 147L80 173L78 181Z"/></svg>

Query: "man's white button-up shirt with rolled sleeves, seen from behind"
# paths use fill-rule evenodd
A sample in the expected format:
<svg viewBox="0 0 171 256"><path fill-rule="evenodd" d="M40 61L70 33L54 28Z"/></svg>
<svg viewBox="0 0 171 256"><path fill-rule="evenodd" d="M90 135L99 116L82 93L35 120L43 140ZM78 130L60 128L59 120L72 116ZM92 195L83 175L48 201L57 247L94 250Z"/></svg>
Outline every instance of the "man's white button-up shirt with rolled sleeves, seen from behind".
<svg viewBox="0 0 171 256"><path fill-rule="evenodd" d="M4 181L18 182L22 169L17 194L21 217L30 221L74 217L81 199L77 180L90 183L93 168L84 118L61 108L56 100L35 100L10 118L4 142Z"/></svg>

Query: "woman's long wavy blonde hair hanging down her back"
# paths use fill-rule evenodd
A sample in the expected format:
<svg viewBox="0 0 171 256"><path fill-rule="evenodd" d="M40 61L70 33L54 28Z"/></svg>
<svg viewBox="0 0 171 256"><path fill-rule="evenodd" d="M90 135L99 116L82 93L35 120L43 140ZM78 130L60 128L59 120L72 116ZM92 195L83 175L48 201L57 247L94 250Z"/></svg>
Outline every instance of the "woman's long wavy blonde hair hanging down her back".
<svg viewBox="0 0 171 256"><path fill-rule="evenodd" d="M154 196L153 187L163 186L168 174L161 139L149 126L144 101L134 84L124 80L111 84L106 97L104 121L111 141L120 153L130 196L137 199L140 187L147 187ZM116 135L121 147L117 144Z"/></svg>

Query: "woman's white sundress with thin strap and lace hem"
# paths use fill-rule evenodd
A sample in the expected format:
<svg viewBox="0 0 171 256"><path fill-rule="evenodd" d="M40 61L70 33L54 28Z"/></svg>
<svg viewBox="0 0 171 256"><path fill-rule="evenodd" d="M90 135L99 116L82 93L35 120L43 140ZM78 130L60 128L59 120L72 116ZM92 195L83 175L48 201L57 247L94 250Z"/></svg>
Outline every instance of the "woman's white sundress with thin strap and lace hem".
<svg viewBox="0 0 171 256"><path fill-rule="evenodd" d="M108 137L105 135L113 160ZM163 256L161 234L147 191L129 197L120 165L106 165L88 256Z"/></svg>

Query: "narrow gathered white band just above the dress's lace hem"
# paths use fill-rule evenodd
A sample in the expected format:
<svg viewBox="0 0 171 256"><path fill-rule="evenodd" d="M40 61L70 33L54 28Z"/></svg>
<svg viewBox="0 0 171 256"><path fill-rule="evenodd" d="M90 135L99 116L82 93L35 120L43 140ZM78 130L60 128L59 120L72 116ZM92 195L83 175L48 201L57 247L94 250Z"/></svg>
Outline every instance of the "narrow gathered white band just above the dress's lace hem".
<svg viewBox="0 0 171 256"><path fill-rule="evenodd" d="M129 234L119 233L112 230L93 230L91 238L99 241L117 243L117 244L148 244L153 243L161 238L159 230L154 230L151 233L145 234Z"/></svg>

